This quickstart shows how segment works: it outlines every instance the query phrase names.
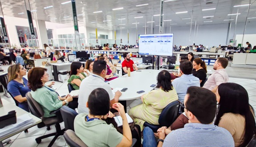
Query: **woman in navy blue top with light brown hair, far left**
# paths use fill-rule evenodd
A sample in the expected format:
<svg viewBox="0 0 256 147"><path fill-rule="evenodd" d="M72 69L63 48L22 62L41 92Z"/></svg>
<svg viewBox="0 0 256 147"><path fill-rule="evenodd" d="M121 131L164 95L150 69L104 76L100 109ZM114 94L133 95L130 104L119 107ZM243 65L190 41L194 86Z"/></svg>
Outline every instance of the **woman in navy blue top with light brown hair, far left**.
<svg viewBox="0 0 256 147"><path fill-rule="evenodd" d="M28 87L28 80L23 76L27 70L20 64L14 64L8 68L7 91L12 95L18 107L29 112L26 93L31 91ZM52 86L54 82L48 86Z"/></svg>

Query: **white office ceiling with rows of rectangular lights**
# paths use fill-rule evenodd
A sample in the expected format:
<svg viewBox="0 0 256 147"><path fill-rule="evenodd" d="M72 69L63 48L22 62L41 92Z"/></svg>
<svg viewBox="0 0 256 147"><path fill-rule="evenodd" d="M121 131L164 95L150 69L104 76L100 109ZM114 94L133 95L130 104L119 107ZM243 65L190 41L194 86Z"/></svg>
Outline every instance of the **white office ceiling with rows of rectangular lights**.
<svg viewBox="0 0 256 147"><path fill-rule="evenodd" d="M0 0L4 12L4 16L14 16L27 18L24 0ZM60 24L73 24L72 5L61 4L70 0L30 0L30 8L38 20L45 20ZM28 0L26 0L28 6ZM136 7L136 5L148 4ZM188 26L192 24L222 24L236 21L236 15L228 16L228 14L240 13L237 22L245 22L248 6L234 7L236 5L249 4L249 0L164 0L163 20L167 27ZM44 7L53 6L44 9ZM112 10L114 8L123 8L121 10ZM213 10L202 11L202 9L216 8ZM33 11L34 10L34 11ZM93 13L98 12L99 13ZM187 13L176 14L176 12ZM143 26L157 27L159 25L160 16L160 0L76 0L76 12L79 26L95 27L95 21L98 28L116 29L138 28ZM134 18L141 17L143 18ZM204 18L205 16L211 16ZM34 14L32 14L34 18ZM251 0L251 6L248 17L256 17L256 0ZM192 18L192 19L189 19ZM120 20L123 19L123 20ZM233 20L230 20L233 19ZM106 21L107 20L107 21ZM228 21L224 21L228 20ZM150 23L154 21L154 23ZM256 18L248 19L248 21L256 21ZM148 22L148 23L147 23ZM123 25L121 25L123 24Z"/></svg>

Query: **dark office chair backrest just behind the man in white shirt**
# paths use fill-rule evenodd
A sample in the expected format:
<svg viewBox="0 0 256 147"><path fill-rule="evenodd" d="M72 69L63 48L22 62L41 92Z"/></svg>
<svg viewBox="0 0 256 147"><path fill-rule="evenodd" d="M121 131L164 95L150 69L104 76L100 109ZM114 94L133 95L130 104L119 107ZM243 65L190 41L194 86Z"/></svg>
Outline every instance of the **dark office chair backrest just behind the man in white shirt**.
<svg viewBox="0 0 256 147"><path fill-rule="evenodd" d="M74 120L76 118L76 115L78 115L78 113L75 110L73 110L67 106L61 107L60 113L61 113L62 119L64 121L64 126L65 126L66 131L67 130L75 131Z"/></svg>

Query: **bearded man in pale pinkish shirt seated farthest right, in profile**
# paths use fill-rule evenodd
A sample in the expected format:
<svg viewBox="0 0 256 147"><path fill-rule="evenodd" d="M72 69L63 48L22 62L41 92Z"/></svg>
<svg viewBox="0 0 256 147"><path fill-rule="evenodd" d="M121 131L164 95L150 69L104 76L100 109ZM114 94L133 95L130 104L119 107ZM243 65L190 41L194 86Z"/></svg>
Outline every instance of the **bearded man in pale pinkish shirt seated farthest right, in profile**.
<svg viewBox="0 0 256 147"><path fill-rule="evenodd" d="M208 80L204 83L204 88L211 90L213 93L216 92L217 87L221 83L228 82L228 74L225 68L228 66L228 59L224 57L218 58L213 64L213 69L216 70L212 75L209 76Z"/></svg>

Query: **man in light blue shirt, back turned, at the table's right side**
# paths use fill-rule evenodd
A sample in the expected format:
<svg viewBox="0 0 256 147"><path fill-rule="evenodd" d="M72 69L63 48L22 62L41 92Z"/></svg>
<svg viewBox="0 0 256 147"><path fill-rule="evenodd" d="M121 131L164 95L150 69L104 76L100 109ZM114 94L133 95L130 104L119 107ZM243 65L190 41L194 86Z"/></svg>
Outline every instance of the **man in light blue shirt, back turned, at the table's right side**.
<svg viewBox="0 0 256 147"><path fill-rule="evenodd" d="M175 88L179 101L183 102L187 93L187 89L190 86L200 87L200 80L192 74L193 65L189 60L180 61L180 78L176 78L172 81L172 85Z"/></svg>

